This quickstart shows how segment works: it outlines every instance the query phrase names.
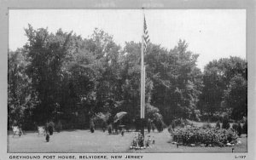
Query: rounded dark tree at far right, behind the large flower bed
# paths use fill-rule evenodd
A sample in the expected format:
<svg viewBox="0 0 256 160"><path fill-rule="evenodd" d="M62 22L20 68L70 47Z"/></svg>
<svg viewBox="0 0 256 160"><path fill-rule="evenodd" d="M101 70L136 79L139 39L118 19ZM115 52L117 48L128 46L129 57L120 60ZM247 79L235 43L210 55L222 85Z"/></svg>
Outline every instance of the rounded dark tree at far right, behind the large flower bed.
<svg viewBox="0 0 256 160"><path fill-rule="evenodd" d="M237 77L239 76L239 77ZM235 78L236 77L236 78ZM212 60L207 64L205 67L205 71L203 74L203 84L204 87L202 89L202 94L200 96L199 108L203 112L203 114L207 115L208 118L212 118L214 114L218 113L218 118L221 117L219 113L221 112L230 112L230 109L234 108L233 106L229 105L228 97L231 94L231 89L233 89L233 95L238 96L237 94L234 95L236 83L233 82L236 79L236 83L241 84L243 87L241 96L241 107L237 106L242 109L242 115L246 115L245 112L247 111L247 62L246 60L242 60L238 57L230 57L230 58L223 58L219 60ZM232 85L231 85L232 84ZM238 85L239 85L238 84ZM235 90L234 90L235 89ZM240 90L240 91L241 91ZM235 98L235 97L234 97ZM236 97L237 98L237 97ZM233 115L234 115L233 110ZM233 118L241 118L234 117ZM217 119L216 119L217 120Z"/></svg>

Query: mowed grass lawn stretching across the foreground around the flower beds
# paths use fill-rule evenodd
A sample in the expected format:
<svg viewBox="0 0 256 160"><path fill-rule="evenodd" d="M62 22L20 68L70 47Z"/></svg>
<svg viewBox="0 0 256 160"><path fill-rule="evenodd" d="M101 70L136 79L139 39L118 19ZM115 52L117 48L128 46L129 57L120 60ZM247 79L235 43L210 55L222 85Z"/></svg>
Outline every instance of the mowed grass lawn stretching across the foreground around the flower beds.
<svg viewBox="0 0 256 160"><path fill-rule="evenodd" d="M201 147L177 146L171 143L172 137L165 129L162 133L147 134L155 140L155 144L145 150L130 150L131 141L136 132L121 134L103 133L96 130L91 134L89 130L73 130L54 133L49 142L43 134L26 133L21 137L9 134L9 152L231 152L232 147ZM234 152L247 151L247 138L239 138L241 144L233 146Z"/></svg>

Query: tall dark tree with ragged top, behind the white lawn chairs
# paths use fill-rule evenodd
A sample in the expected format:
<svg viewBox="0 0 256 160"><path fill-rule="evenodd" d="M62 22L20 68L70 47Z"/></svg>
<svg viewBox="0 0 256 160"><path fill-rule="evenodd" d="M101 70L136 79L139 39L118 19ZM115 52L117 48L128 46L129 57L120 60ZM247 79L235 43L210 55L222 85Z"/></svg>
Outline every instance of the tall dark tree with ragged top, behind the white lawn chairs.
<svg viewBox="0 0 256 160"><path fill-rule="evenodd" d="M59 30L54 35L44 28L34 30L30 25L25 31L28 37L25 50L30 61L26 74L32 80L32 89L38 94L33 116L37 123L45 123L54 117L55 108L59 106L61 66L72 33Z"/></svg>

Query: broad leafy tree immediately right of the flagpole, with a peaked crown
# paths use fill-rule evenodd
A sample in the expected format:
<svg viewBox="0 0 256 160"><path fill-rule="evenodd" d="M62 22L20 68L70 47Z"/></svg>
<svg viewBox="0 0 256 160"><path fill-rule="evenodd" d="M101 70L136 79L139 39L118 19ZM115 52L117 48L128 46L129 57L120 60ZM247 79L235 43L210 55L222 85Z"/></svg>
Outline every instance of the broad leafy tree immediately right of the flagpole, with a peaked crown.
<svg viewBox="0 0 256 160"><path fill-rule="evenodd" d="M190 117L201 93L201 71L195 64L198 54L187 48L181 40L169 52L152 45L145 58L154 83L152 104L160 108L167 123L177 117Z"/></svg>

